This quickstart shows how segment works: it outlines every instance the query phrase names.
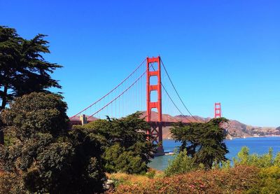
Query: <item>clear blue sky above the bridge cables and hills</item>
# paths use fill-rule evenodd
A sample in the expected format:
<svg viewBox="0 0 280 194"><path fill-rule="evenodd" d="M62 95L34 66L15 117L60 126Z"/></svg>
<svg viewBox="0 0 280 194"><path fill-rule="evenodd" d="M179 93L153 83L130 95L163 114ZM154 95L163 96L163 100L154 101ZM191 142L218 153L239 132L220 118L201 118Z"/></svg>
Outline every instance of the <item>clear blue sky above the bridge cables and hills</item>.
<svg viewBox="0 0 280 194"><path fill-rule="evenodd" d="M0 25L48 34L69 115L160 54L190 111L280 125L280 1L0 0ZM106 74L104 74L106 71Z"/></svg>

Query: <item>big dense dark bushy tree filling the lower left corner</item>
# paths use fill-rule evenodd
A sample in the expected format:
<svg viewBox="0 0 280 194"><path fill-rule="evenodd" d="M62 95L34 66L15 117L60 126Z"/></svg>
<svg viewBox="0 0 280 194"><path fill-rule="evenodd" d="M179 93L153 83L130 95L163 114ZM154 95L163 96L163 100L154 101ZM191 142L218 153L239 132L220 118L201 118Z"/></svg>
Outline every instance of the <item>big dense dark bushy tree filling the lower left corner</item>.
<svg viewBox="0 0 280 194"><path fill-rule="evenodd" d="M3 110L5 130L15 141L0 146L0 171L18 177L11 187L22 193L102 192L102 143L86 130L68 130L66 108L60 95L32 92Z"/></svg>

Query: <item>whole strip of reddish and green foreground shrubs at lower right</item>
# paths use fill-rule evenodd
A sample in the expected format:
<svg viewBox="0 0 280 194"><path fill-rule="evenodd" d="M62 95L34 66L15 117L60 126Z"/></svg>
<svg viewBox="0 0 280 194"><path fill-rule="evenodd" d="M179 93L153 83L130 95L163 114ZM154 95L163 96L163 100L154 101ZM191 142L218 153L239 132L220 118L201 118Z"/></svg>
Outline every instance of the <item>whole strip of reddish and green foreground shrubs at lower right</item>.
<svg viewBox="0 0 280 194"><path fill-rule="evenodd" d="M276 194L280 193L279 155L273 157L272 149L264 155L250 155L248 148L244 147L234 166L230 166L227 160L222 162L223 165L214 163L211 169L204 170L192 166L193 160L184 150L169 164L164 176L155 175L151 181L139 175L113 174L109 177L116 183L115 193Z"/></svg>

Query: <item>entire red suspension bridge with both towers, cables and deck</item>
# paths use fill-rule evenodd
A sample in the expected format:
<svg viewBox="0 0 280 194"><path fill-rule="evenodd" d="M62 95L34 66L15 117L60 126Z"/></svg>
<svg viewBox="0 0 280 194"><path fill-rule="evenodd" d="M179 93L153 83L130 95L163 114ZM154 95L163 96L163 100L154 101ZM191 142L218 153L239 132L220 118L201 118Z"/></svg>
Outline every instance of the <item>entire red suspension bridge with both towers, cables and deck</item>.
<svg viewBox="0 0 280 194"><path fill-rule="evenodd" d="M122 118L136 111L141 111L151 126L146 133L151 135L153 144L158 144L158 154L164 153L162 127L204 122L190 113L160 56L147 57L115 88L71 116L70 121L72 125L84 125L106 116ZM215 103L214 113L215 118L221 117L221 103Z"/></svg>

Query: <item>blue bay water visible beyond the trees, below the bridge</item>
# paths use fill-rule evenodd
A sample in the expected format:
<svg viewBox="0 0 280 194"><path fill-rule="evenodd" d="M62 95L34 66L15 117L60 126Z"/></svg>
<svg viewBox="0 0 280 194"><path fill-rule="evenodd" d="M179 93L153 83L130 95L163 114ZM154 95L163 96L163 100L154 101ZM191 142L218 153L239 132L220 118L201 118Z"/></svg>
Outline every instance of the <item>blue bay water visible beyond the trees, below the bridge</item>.
<svg viewBox="0 0 280 194"><path fill-rule="evenodd" d="M226 157L232 160L237 155L242 146L247 146L250 149L250 153L264 154L267 153L269 148L273 148L273 153L276 155L280 151L280 137L247 137L245 139L238 138L232 140L225 140L225 144L228 147L228 153ZM180 146L180 142L174 140L163 141L163 147L165 151L172 152L174 148ZM149 167L163 170L167 167L169 160L172 160L174 155L162 155L155 157L148 164Z"/></svg>

